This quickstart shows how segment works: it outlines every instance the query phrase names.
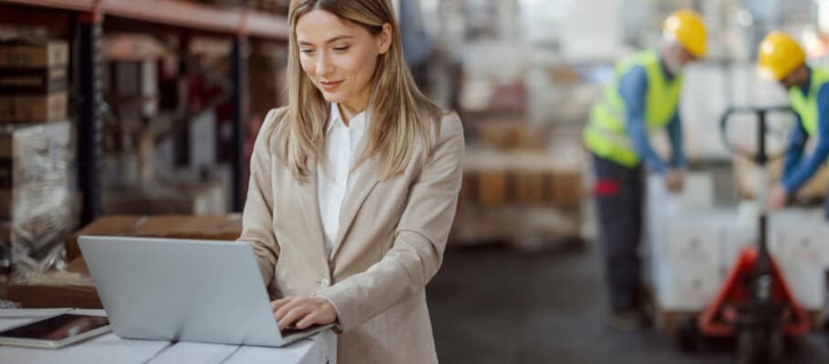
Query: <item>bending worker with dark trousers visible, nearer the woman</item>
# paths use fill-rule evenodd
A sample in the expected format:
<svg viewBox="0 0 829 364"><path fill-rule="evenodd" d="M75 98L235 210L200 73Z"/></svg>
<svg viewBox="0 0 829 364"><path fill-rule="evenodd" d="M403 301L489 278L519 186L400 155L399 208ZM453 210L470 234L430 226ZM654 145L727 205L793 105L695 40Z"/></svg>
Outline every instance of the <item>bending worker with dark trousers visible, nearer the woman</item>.
<svg viewBox="0 0 829 364"><path fill-rule="evenodd" d="M671 191L681 191L688 162L682 151L679 92L682 68L705 56L706 29L689 10L668 16L659 52L630 56L616 66L616 79L591 110L585 126L586 147L593 154L594 194L599 213L606 274L610 289L608 324L625 331L640 329L639 302L644 180L642 163L665 177ZM651 146L649 135L668 129L673 149L665 161Z"/></svg>

